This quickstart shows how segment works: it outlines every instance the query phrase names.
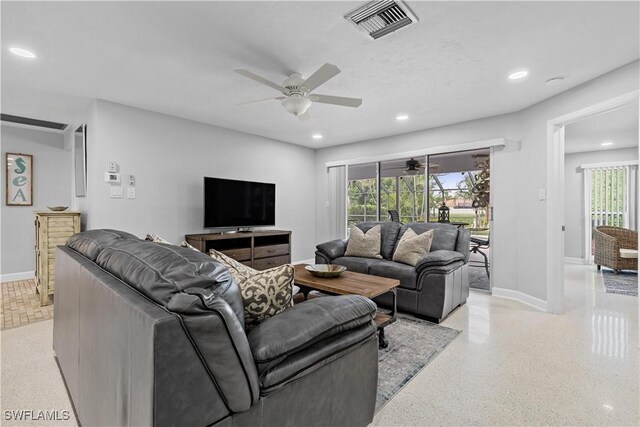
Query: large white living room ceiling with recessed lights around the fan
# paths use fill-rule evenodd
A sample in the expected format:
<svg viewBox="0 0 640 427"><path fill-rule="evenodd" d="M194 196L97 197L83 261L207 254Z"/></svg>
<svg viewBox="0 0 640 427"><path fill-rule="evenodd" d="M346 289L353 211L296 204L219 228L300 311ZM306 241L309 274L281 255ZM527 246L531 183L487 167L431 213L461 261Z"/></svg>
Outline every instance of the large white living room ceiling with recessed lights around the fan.
<svg viewBox="0 0 640 427"><path fill-rule="evenodd" d="M377 41L342 18L359 2L0 4L3 113L68 122L101 98L308 147L517 111L640 56L638 2L408 1L420 22ZM281 82L325 62L342 73L316 92L360 108L315 104L301 122L238 105L278 93L234 68Z"/></svg>

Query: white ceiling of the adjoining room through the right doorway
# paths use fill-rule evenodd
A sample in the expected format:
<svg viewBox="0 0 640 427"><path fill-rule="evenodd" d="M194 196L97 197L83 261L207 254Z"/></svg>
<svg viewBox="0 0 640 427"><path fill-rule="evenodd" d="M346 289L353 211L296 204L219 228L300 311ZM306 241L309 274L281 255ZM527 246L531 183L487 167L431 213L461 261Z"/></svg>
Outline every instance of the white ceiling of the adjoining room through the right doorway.
<svg viewBox="0 0 640 427"><path fill-rule="evenodd" d="M638 146L638 104L590 117L565 128L565 152L615 150ZM605 141L613 145L602 146Z"/></svg>

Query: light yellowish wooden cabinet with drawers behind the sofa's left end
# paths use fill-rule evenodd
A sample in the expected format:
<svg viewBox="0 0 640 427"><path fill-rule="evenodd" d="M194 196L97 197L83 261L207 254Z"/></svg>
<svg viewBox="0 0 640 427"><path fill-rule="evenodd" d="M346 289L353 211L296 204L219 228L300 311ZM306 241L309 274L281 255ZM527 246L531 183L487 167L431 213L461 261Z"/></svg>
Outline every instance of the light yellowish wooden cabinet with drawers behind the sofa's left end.
<svg viewBox="0 0 640 427"><path fill-rule="evenodd" d="M80 231L80 212L36 211L36 291L40 305L51 302L55 290L56 246Z"/></svg>

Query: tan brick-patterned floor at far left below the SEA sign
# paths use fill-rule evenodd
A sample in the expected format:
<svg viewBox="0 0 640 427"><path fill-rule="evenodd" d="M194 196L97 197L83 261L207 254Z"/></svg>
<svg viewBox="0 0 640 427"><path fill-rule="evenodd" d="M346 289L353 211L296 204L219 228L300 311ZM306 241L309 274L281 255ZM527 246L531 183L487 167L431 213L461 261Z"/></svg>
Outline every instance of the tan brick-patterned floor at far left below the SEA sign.
<svg viewBox="0 0 640 427"><path fill-rule="evenodd" d="M3 282L0 329L53 319L53 304L40 306L35 279Z"/></svg>

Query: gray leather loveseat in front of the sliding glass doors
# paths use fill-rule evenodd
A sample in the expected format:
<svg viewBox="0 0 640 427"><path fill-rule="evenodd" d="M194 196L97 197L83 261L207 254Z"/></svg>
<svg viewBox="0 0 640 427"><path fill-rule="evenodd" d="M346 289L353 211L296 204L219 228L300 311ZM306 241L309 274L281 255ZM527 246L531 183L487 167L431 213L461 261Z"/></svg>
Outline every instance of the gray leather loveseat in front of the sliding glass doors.
<svg viewBox="0 0 640 427"><path fill-rule="evenodd" d="M332 240L316 247L316 263L339 264L348 270L400 280L397 290L398 309L439 323L469 296L469 231L451 224L413 222L363 222L357 225L367 231L381 225L380 254L383 259L346 257L348 240ZM400 237L412 228L417 234L434 229L431 251L418 264L392 261ZM390 306L389 295L376 298Z"/></svg>

